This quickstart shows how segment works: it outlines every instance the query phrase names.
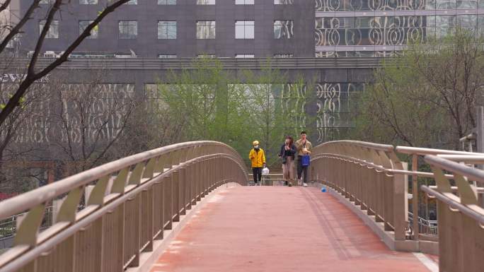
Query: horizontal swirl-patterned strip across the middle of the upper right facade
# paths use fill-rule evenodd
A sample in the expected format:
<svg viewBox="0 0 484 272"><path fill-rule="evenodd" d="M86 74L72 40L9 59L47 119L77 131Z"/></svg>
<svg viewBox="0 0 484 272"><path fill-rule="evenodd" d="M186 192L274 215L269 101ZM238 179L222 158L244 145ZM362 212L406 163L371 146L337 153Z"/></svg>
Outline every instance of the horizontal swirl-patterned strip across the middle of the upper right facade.
<svg viewBox="0 0 484 272"><path fill-rule="evenodd" d="M316 47L408 45L430 37L444 37L458 25L482 28L484 16L322 17L316 18Z"/></svg>

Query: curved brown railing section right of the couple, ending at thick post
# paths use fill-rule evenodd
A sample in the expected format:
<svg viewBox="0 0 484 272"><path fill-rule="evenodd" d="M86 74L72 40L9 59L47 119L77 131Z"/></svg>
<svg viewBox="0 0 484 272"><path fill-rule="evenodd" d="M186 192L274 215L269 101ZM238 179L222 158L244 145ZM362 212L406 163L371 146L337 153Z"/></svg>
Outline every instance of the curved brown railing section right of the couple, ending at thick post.
<svg viewBox="0 0 484 272"><path fill-rule="evenodd" d="M359 141L333 141L313 148L312 179L328 184L368 215L405 240L408 227L406 185L393 146Z"/></svg>

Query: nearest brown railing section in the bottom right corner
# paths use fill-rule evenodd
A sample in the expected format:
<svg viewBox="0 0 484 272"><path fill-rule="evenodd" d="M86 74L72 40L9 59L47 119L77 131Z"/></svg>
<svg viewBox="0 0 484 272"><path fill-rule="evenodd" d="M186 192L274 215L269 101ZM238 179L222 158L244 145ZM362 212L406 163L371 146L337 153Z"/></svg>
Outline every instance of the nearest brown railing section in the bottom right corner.
<svg viewBox="0 0 484 272"><path fill-rule="evenodd" d="M426 155L425 162L432 167L437 183L433 188L423 185L422 190L437 199L439 270L482 271L484 208L479 206L480 196L471 182L484 182L484 171L459 162L484 165L484 155Z"/></svg>

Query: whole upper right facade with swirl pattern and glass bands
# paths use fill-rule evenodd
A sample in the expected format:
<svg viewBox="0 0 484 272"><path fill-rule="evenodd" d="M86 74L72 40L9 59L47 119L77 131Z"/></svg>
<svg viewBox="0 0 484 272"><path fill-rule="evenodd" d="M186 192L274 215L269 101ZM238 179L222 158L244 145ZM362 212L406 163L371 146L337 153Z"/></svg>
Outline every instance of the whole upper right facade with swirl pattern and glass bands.
<svg viewBox="0 0 484 272"><path fill-rule="evenodd" d="M316 0L316 57L392 57L456 27L484 30L484 0Z"/></svg>

